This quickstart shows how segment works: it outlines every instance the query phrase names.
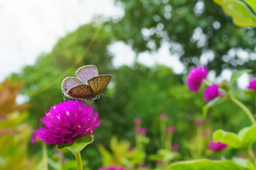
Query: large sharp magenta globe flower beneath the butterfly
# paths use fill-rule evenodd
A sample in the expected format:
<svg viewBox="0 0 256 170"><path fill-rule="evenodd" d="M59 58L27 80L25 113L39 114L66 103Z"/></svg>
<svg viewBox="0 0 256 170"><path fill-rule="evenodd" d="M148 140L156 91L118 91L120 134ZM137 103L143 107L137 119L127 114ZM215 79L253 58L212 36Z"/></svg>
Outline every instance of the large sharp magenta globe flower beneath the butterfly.
<svg viewBox="0 0 256 170"><path fill-rule="evenodd" d="M60 102L45 112L41 122L38 139L49 144L72 143L85 135L92 135L100 125L98 113L93 114L93 107L75 100Z"/></svg>

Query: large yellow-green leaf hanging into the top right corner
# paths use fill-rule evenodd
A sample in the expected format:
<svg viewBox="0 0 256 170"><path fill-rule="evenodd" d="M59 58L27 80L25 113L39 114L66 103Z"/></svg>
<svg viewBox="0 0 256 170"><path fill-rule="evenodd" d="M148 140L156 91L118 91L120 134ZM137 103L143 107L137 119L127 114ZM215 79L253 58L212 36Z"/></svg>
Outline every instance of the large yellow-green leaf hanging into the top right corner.
<svg viewBox="0 0 256 170"><path fill-rule="evenodd" d="M236 26L255 27L255 14L240 0L213 0L220 5L225 14L233 18Z"/></svg>

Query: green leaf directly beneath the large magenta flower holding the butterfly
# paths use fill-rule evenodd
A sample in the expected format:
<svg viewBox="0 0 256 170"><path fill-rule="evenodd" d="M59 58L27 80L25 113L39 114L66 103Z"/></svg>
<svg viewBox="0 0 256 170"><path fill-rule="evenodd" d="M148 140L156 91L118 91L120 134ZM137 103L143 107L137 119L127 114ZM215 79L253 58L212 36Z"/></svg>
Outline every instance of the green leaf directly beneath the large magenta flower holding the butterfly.
<svg viewBox="0 0 256 170"><path fill-rule="evenodd" d="M85 135L79 139L76 139L73 143L65 143L65 144L58 144L58 149L69 149L73 154L78 153L84 147L87 146L87 144L90 144L93 142L93 136Z"/></svg>

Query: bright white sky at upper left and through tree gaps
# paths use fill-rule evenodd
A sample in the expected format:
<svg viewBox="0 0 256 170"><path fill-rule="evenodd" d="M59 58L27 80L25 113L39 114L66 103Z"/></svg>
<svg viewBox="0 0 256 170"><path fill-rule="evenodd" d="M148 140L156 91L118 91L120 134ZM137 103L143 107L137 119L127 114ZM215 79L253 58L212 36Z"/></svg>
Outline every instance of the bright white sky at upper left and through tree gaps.
<svg viewBox="0 0 256 170"><path fill-rule="evenodd" d="M95 14L104 14L105 19L121 18L124 10L114 6L113 2L114 0L0 0L0 81L12 72L19 72L24 65L33 65L38 55L52 50L58 38L89 23ZM114 42L108 50L114 56L115 67L133 64L135 53L125 43ZM167 65L177 74L184 71L179 58L171 56L166 42L154 54L140 53L137 60L148 66L155 63ZM223 72L223 77L229 79L230 75L231 71ZM248 75L241 77L241 80L239 87L245 88L249 81Z"/></svg>

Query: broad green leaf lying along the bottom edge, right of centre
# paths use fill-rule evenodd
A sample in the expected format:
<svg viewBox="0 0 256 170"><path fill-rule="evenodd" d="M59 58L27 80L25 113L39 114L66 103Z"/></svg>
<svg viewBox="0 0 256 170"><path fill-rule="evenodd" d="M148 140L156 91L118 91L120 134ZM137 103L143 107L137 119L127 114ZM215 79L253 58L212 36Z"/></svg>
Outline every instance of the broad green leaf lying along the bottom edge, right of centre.
<svg viewBox="0 0 256 170"><path fill-rule="evenodd" d="M212 161L201 159L195 161L180 161L171 164L168 170L248 170L232 161Z"/></svg>

